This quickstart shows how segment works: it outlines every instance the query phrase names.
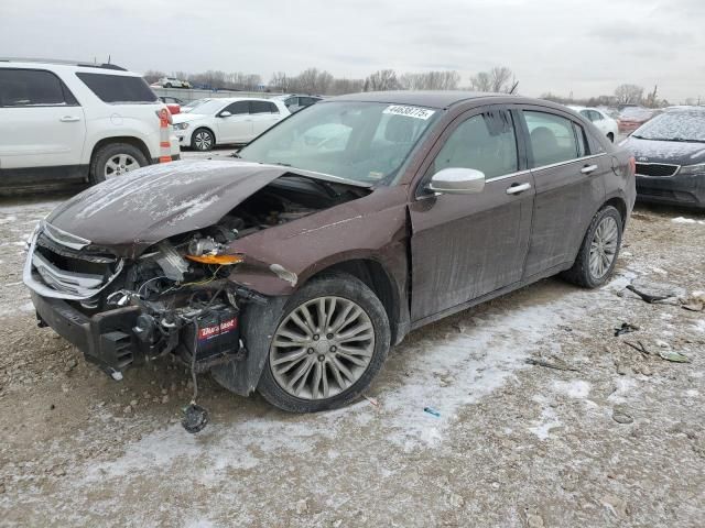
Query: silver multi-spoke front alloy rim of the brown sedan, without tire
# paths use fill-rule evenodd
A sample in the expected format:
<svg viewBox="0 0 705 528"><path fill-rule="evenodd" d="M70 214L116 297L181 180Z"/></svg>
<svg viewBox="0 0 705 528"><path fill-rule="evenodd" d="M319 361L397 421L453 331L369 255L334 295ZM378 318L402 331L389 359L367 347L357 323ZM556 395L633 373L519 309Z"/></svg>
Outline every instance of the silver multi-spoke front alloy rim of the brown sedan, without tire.
<svg viewBox="0 0 705 528"><path fill-rule="evenodd" d="M325 399L346 391L367 371L375 328L367 312L343 297L318 297L292 310L270 346L270 369L291 396Z"/></svg>

